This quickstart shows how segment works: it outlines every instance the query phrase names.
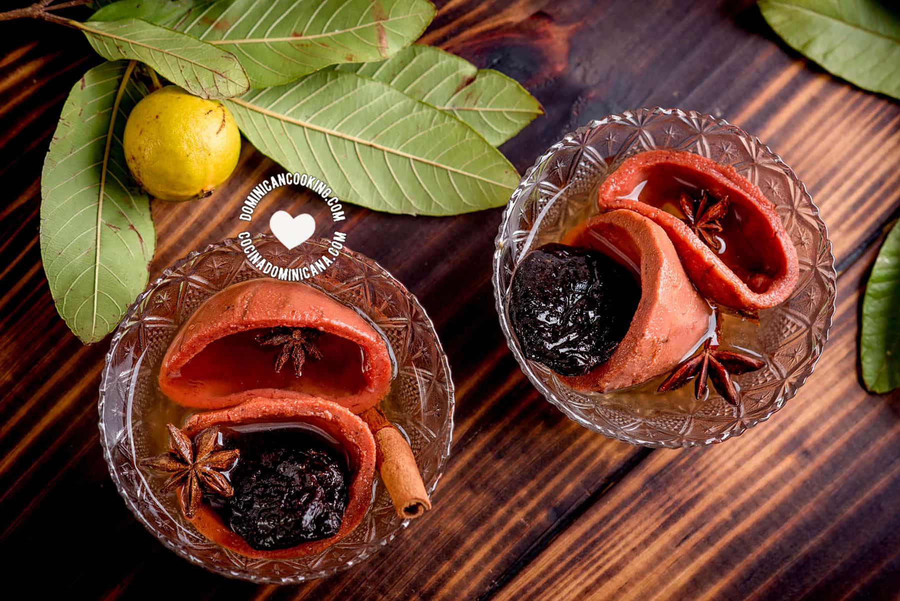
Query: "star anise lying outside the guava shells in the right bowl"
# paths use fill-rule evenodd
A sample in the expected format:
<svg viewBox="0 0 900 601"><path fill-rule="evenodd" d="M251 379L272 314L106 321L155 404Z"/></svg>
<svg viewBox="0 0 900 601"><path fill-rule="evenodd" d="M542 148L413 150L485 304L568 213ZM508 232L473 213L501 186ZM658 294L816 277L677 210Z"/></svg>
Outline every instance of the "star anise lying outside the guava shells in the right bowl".
<svg viewBox="0 0 900 601"><path fill-rule="evenodd" d="M750 355L734 351L719 351L718 345L707 338L698 354L686 360L671 372L657 392L683 387L694 378L694 397L698 400L707 393L707 378L713 380L716 391L731 405L737 405L741 396L734 387L732 375L745 374L761 369L766 363Z"/></svg>

